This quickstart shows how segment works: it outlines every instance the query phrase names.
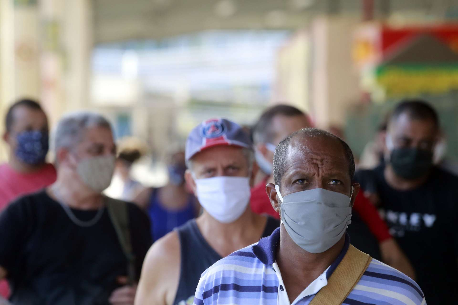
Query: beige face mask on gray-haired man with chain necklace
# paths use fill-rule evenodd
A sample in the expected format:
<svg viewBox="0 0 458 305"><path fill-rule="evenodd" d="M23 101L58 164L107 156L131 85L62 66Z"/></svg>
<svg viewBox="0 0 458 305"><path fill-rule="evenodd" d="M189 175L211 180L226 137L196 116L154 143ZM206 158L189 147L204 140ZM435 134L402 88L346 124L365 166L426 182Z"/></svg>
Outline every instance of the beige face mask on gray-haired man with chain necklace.
<svg viewBox="0 0 458 305"><path fill-rule="evenodd" d="M78 162L76 171L84 184L100 193L111 183L115 161L114 155L88 157Z"/></svg>

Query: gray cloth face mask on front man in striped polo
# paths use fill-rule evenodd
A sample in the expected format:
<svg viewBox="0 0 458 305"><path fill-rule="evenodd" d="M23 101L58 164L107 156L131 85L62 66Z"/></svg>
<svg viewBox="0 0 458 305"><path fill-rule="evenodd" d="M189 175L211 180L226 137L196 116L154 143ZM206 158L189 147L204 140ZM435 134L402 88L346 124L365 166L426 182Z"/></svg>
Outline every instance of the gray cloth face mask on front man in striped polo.
<svg viewBox="0 0 458 305"><path fill-rule="evenodd" d="M281 220L291 239L310 253L322 253L334 246L351 224L351 195L324 188L291 193L284 198L275 186ZM353 194L353 187L351 187Z"/></svg>

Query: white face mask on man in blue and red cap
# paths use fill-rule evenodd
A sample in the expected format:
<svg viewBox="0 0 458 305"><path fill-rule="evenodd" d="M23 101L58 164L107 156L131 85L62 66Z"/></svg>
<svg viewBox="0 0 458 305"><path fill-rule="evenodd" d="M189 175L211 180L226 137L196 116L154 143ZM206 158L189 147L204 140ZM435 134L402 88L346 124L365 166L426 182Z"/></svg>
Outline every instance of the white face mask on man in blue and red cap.
<svg viewBox="0 0 458 305"><path fill-rule="evenodd" d="M250 178L212 177L196 179L196 196L214 219L228 224L245 212L250 202Z"/></svg>

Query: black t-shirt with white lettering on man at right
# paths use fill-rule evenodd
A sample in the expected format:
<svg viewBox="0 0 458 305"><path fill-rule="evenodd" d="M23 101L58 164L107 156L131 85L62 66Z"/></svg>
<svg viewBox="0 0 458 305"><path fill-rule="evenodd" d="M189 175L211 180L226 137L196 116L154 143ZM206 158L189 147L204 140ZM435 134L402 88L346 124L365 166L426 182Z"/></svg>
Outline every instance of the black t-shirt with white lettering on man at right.
<svg viewBox="0 0 458 305"><path fill-rule="evenodd" d="M458 177L434 168L422 186L398 191L383 172L383 166L358 171L355 180L380 198L390 233L412 262L428 304L455 304Z"/></svg>

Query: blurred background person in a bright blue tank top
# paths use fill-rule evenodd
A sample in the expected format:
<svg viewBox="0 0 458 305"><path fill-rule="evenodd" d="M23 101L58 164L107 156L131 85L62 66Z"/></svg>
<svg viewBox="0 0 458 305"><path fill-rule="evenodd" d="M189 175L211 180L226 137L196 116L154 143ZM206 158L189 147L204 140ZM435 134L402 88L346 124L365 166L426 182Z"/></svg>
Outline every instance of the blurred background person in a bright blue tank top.
<svg viewBox="0 0 458 305"><path fill-rule="evenodd" d="M172 152L167 159L169 182L164 187L145 189L134 200L150 217L153 241L195 218L200 210L186 187L185 152Z"/></svg>

